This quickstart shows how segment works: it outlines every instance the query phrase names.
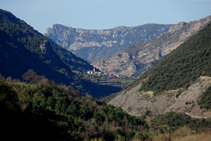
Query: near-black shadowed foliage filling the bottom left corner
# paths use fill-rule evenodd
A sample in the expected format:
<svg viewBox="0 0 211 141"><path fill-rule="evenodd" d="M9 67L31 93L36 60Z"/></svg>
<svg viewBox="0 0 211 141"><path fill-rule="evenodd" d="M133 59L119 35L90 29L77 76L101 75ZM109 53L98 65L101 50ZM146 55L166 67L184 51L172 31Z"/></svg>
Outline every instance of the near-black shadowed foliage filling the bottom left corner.
<svg viewBox="0 0 211 141"><path fill-rule="evenodd" d="M44 107L20 107L13 88L0 82L2 136L7 140L81 140L61 115ZM10 134L10 135L8 135Z"/></svg>

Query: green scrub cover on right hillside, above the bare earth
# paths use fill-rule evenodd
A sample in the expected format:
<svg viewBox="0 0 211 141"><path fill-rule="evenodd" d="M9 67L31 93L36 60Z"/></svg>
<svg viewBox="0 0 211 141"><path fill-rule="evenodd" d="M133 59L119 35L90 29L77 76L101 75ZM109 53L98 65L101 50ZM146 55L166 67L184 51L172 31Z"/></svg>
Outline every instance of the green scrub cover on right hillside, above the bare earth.
<svg viewBox="0 0 211 141"><path fill-rule="evenodd" d="M211 24L157 62L138 80L140 88L155 93L187 88L199 76L211 76ZM137 83L136 82L136 83ZM131 85L132 86L132 85Z"/></svg>

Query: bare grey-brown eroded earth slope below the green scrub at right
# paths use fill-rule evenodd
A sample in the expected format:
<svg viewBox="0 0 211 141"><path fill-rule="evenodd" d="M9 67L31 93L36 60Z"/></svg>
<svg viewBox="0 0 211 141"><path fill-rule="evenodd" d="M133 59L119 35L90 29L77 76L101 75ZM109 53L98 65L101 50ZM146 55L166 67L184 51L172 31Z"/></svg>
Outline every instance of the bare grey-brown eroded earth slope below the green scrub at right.
<svg viewBox="0 0 211 141"><path fill-rule="evenodd" d="M192 117L211 117L211 112L200 109L197 104L198 98L211 86L211 77L201 76L187 89L179 88L169 90L156 95L152 91L139 92L141 83L129 91L122 91L117 97L109 102L131 115L141 116L146 111L152 114L163 114L170 111L185 112Z"/></svg>

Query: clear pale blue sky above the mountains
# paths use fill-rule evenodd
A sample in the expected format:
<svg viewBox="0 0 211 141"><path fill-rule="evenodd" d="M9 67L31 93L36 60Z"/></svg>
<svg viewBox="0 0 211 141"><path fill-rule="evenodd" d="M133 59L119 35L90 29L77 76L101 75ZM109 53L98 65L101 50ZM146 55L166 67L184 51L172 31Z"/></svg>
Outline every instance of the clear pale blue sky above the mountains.
<svg viewBox="0 0 211 141"><path fill-rule="evenodd" d="M44 33L53 24L110 29L189 22L210 16L211 0L0 0L0 8Z"/></svg>

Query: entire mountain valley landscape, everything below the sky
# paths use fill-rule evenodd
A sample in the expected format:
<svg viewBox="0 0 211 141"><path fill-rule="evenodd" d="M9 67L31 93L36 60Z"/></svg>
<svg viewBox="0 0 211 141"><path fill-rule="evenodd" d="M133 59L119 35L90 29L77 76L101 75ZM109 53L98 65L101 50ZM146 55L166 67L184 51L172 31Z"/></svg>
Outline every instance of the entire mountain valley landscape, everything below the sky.
<svg viewBox="0 0 211 141"><path fill-rule="evenodd" d="M44 36L0 9L2 138L208 141L210 61L211 16Z"/></svg>

